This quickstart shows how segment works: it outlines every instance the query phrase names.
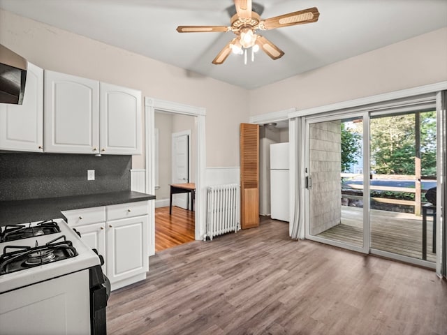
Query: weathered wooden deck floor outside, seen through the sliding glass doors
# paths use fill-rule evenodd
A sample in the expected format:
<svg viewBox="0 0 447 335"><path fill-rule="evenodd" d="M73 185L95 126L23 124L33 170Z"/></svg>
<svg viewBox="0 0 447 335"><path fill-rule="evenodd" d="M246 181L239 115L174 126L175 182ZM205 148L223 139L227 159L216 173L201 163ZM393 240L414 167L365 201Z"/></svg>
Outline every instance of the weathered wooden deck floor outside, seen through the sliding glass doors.
<svg viewBox="0 0 447 335"><path fill-rule="evenodd" d="M342 223L320 237L353 246L363 244L363 209L342 206ZM422 217L395 211L371 209L371 248L422 259ZM432 252L433 220L427 218L427 260L436 262ZM447 332L446 332L447 334Z"/></svg>

